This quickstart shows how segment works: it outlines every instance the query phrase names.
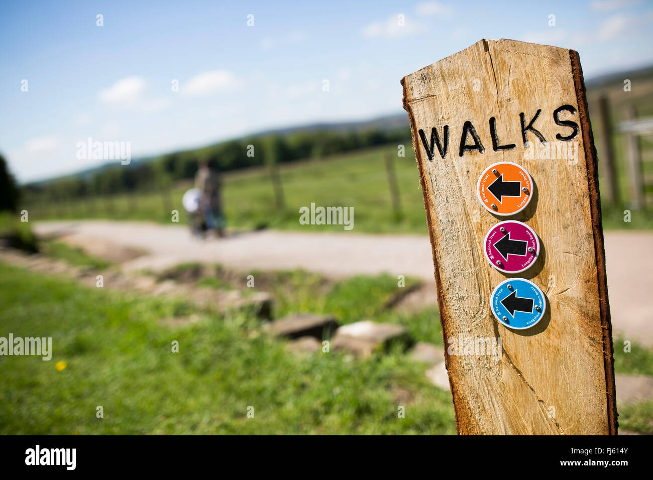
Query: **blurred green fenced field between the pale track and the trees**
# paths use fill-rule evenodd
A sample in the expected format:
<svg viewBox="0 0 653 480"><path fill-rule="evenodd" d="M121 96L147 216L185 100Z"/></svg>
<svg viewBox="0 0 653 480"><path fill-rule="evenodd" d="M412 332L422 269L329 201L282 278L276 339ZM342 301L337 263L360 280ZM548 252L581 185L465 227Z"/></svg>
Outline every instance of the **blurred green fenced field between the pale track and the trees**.
<svg viewBox="0 0 653 480"><path fill-rule="evenodd" d="M265 169L228 172L223 199L230 228L274 228L302 231L343 231L342 225L300 225L299 209L310 206L352 206L356 232L426 234L426 214L415 155L410 144L406 157L396 156L396 146L340 155L329 159L282 165L285 208L278 210L270 176ZM400 214L392 210L384 156L392 155L400 191ZM181 205L190 183L168 193L151 192L100 197L84 202L54 202L29 206L30 220L54 218L110 218L170 223L172 209L186 220ZM603 208L605 229L652 229L653 213L632 212L624 221L624 208Z"/></svg>

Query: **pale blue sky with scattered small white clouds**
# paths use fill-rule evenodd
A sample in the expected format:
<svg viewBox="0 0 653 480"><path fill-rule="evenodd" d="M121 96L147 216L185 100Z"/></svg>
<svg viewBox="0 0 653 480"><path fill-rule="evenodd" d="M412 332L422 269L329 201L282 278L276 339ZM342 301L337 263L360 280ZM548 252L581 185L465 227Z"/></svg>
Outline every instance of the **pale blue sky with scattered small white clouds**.
<svg viewBox="0 0 653 480"><path fill-rule="evenodd" d="M88 137L131 142L140 157L263 129L400 113L403 76L482 38L573 48L586 78L653 63L653 4L643 0L0 8L0 152L20 182L104 163L76 158L77 142Z"/></svg>

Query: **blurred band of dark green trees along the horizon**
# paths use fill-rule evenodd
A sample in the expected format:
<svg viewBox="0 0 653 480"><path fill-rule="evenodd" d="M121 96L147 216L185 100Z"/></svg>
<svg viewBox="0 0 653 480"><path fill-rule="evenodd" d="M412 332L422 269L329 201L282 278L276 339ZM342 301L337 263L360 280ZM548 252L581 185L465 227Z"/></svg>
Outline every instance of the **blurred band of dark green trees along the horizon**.
<svg viewBox="0 0 653 480"><path fill-rule="evenodd" d="M129 165L106 165L87 174L27 184L22 191L26 201L38 202L162 189L179 180L193 178L201 159L208 159L220 171L228 171L322 158L390 142L406 142L409 138L408 127L362 131L310 130L289 135L250 136L132 161Z"/></svg>

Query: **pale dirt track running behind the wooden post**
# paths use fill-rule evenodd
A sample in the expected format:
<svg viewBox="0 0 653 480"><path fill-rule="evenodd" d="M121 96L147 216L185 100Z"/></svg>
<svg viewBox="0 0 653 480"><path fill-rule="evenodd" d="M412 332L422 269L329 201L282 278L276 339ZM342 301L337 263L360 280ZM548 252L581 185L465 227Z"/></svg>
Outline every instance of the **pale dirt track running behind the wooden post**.
<svg viewBox="0 0 653 480"><path fill-rule="evenodd" d="M149 252L125 261L126 270L201 261L242 270L304 268L335 278L389 272L434 281L426 235L260 231L202 241L178 225L114 221L44 222L35 231L69 234L71 241L97 248ZM606 232L605 251L614 330L627 340L653 345L653 232Z"/></svg>

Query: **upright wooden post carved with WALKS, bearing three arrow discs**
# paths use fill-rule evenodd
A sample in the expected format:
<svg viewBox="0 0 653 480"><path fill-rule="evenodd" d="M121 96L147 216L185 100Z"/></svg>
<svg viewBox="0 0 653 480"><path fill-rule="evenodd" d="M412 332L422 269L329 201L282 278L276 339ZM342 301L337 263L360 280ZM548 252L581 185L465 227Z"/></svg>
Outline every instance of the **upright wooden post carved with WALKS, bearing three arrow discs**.
<svg viewBox="0 0 653 480"><path fill-rule="evenodd" d="M577 52L481 40L402 85L458 433L616 434L597 159ZM505 220L523 225L497 225ZM517 238L530 232L539 242ZM505 272L511 263L528 270ZM484 339L500 339L500 358L479 351Z"/></svg>

